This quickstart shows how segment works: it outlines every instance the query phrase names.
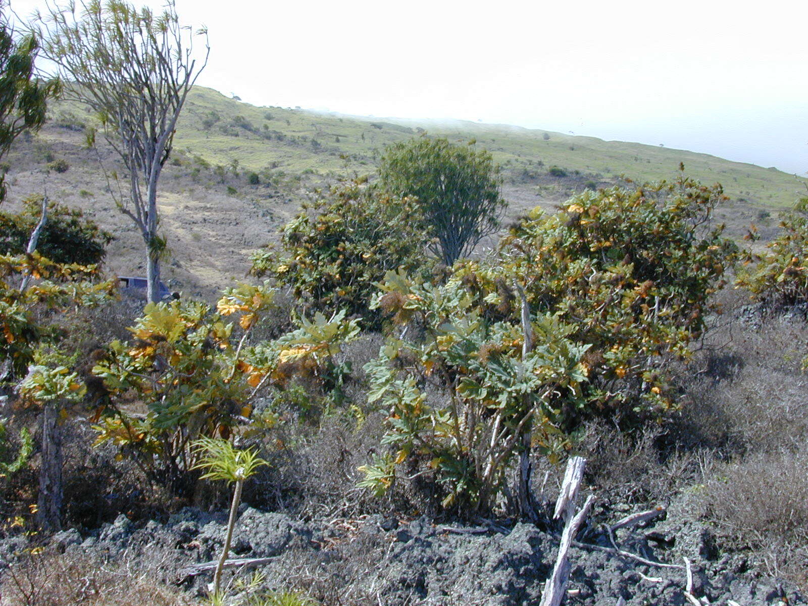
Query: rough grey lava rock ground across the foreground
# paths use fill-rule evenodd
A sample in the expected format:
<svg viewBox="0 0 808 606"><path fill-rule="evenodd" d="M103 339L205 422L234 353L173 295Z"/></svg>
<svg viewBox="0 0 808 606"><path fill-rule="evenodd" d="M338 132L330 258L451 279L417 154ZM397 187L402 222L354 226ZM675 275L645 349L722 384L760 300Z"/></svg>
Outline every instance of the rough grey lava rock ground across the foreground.
<svg viewBox="0 0 808 606"><path fill-rule="evenodd" d="M618 555L609 550L603 527L584 528L579 539L592 546L572 549L566 603L688 604L686 557L692 562L692 594L702 604L806 604L793 587L755 572L742 555L719 553L709 529L692 521L698 513L694 503L681 499L645 527L617 532L620 549L663 566ZM209 575L189 576L183 569L217 557L225 522L225 512L191 508L165 524L134 524L121 515L84 535L76 529L57 533L48 549L63 557L88 553L130 565L159 562L163 582L201 596ZM446 524L380 515L304 522L242 507L231 557L271 558L260 566L267 587L302 588L322 604L528 606L539 604L558 531L504 521ZM6 539L0 558L13 562L26 546L23 537Z"/></svg>

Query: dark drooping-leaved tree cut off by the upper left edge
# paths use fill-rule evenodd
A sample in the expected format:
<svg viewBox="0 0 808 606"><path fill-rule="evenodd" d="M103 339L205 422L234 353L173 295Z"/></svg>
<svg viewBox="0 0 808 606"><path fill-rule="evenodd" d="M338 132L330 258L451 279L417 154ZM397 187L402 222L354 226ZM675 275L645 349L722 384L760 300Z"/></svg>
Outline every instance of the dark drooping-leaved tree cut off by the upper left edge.
<svg viewBox="0 0 808 606"><path fill-rule="evenodd" d="M15 40L14 28L4 14L7 8L0 0L0 159L20 134L44 124L45 102L59 86L55 80L34 77L39 43L31 35ZM4 177L0 175L0 201L6 195Z"/></svg>

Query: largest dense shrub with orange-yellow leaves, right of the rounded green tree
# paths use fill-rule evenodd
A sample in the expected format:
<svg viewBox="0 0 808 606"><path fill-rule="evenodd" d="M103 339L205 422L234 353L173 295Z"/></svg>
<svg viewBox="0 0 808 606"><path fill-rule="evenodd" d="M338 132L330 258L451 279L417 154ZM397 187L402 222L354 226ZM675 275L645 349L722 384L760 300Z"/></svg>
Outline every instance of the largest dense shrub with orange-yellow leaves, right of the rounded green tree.
<svg viewBox="0 0 808 606"><path fill-rule="evenodd" d="M664 369L687 359L705 330L709 296L725 282L737 246L713 227L726 200L719 185L680 175L673 183L584 191L560 213L540 210L512 228L499 261L459 269L490 317L516 313L514 276L534 313L576 326L570 339L591 347L587 410L621 415L675 406ZM567 428L579 419L568 419Z"/></svg>

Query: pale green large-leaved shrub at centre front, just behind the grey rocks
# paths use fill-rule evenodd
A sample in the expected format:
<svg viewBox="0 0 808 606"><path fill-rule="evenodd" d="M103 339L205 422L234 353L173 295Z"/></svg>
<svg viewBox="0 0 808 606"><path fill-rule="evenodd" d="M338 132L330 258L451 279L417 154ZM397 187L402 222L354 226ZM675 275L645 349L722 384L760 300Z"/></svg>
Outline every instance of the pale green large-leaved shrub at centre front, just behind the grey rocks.
<svg viewBox="0 0 808 606"><path fill-rule="evenodd" d="M365 367L395 453L364 466L360 486L384 493L400 465L431 477L444 507L486 513L532 434L549 445L563 411L583 404L587 346L549 314L490 322L461 277L435 286L390 272L381 289L374 306L417 330L390 337Z"/></svg>

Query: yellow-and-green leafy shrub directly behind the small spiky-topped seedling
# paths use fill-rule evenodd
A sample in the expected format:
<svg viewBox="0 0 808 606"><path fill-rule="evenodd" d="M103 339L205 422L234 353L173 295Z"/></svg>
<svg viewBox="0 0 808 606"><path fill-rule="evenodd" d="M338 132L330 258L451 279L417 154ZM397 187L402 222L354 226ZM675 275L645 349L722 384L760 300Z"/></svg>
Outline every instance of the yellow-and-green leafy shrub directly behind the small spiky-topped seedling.
<svg viewBox="0 0 808 606"><path fill-rule="evenodd" d="M271 411L252 415L263 385L285 385L292 376L322 377L341 343L359 332L344 314L330 320L316 316L280 339L248 345L275 298L267 284L242 284L225 289L215 312L196 301L146 305L131 329L133 343L113 341L93 369L110 393L95 415L99 443L116 444L152 482L187 495L199 454L191 448L194 440L229 438L250 416L250 431L274 425L278 419ZM238 329L227 321L232 314L238 314ZM129 412L132 393L149 411L143 418Z"/></svg>

